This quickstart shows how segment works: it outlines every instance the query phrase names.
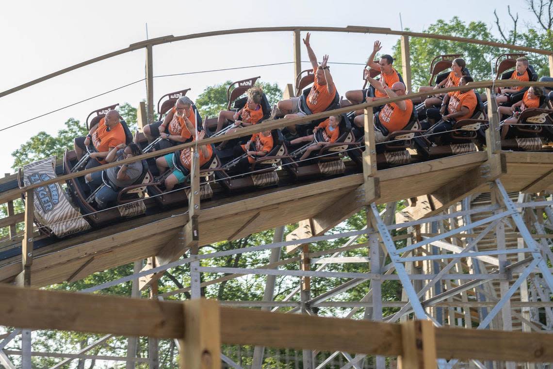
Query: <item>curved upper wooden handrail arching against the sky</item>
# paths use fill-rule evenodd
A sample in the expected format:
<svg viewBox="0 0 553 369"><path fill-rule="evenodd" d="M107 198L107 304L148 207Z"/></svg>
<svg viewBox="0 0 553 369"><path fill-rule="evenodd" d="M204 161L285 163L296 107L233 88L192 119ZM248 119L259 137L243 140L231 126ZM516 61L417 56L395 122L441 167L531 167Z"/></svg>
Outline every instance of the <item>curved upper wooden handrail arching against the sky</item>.
<svg viewBox="0 0 553 369"><path fill-rule="evenodd" d="M105 59L112 58L113 56L121 55L128 53L130 51L147 48L148 46L154 46L154 45L161 45L165 43L175 42L175 41L182 41L182 40L191 40L191 39L197 39L197 38L204 38L204 37L213 37L213 36L221 36L221 35L230 35L230 34L243 34L243 33L255 33L255 32L290 32L294 30L301 31L310 31L310 32L347 32L347 33L373 33L373 34L391 34L391 35L402 35L402 36L408 36L408 37L421 37L421 38L430 38L430 39L439 39L439 40L448 40L448 41L458 41L463 43L472 43L472 44L479 44L479 45L487 45L487 46L495 46L498 48L505 48L510 50L520 50L520 51L526 51L528 53L536 53L536 54L542 54L542 55L552 55L551 50L544 50L544 49L535 49L535 48L529 48L527 46L517 46L517 45L509 45L509 44L503 44L503 43L497 43L492 41L486 41L486 40L477 40L477 39L469 39L469 38L462 38L462 37L454 37L454 36L447 36L447 35L439 35L439 34L431 34L431 33L420 33L420 32L404 32L404 31L398 31L398 30L392 30L390 28L379 28L379 27L363 27L363 26L352 26L348 25L347 27L258 27L258 28L238 28L238 29L227 29L227 30L220 30L220 31L211 31L211 32L202 32L202 33L194 33L189 35L182 35L175 37L173 35L168 35L164 37L158 37L154 39L149 40L143 40L139 41L137 43L129 45L127 48L119 49L116 51L112 51L111 53L104 54L101 56L97 56L96 58L88 59L85 61L82 61L81 63L66 67L64 69L55 71L53 73L50 73L48 75L42 76L40 78L34 79L32 81L26 82L22 85L12 87L9 90L0 92L0 97L9 95L10 93L23 90L29 86L36 85L40 82L49 80L53 77L65 74L67 72L70 72L75 69L79 69L80 67L90 65L93 63L96 63L97 61L102 61Z"/></svg>

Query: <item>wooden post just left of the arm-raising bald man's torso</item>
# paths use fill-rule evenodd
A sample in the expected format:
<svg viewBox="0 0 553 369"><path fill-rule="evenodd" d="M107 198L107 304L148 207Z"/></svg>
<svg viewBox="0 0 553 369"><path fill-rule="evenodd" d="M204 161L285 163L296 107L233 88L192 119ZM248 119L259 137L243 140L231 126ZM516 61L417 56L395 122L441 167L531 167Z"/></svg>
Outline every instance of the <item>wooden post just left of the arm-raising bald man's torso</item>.
<svg viewBox="0 0 553 369"><path fill-rule="evenodd" d="M363 152L363 176L365 205L371 204L380 196L377 174L377 151L374 139L373 108L365 109L365 151Z"/></svg>

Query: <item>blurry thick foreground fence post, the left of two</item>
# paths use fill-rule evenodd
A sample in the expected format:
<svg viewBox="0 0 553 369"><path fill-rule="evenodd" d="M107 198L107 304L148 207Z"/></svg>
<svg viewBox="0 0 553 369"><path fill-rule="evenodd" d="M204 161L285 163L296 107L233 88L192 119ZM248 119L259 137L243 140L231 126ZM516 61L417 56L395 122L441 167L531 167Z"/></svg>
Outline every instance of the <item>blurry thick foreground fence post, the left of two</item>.
<svg viewBox="0 0 553 369"><path fill-rule="evenodd" d="M184 303L184 337L179 340L181 369L221 368L220 320L215 300Z"/></svg>

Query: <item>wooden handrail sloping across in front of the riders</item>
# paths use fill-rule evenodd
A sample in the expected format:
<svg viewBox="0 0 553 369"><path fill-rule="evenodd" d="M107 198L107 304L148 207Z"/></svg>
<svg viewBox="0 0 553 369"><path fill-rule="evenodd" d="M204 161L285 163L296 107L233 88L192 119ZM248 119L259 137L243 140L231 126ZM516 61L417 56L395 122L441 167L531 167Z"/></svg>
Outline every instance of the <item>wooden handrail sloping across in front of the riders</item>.
<svg viewBox="0 0 553 369"><path fill-rule="evenodd" d="M440 89L440 91L432 92L432 93L446 93L446 92L450 92L450 91L462 91L462 90L469 90L469 89L483 89L483 88L486 88L486 87L491 87L492 85L495 86L495 87L506 87L506 86L542 86L542 87L545 87L545 86L553 86L553 82L519 82L519 81L514 81L514 80L479 81L479 82L470 82L469 84L467 84L465 86L455 86L455 87L448 87L446 89ZM401 101L401 100L406 100L408 98L424 97L424 96L428 96L428 95L429 95L429 92L410 93L408 95L389 98L388 100L385 100L385 102L397 102L397 101ZM352 105L352 106L347 106L347 107L343 107L343 108L337 108L335 110L324 111L324 112L308 115L308 116L305 116L305 117L299 117L299 118L293 118L293 119L276 119L276 120L268 119L268 120L266 120L262 123L254 124L253 126L248 126L248 127L242 128L242 129L238 129L234 133L229 133L225 136L206 138L206 139L203 139L201 142L204 145L212 144L212 143L218 143L218 142L228 140L228 139L249 136L253 133L263 132L263 131L268 130L268 129L284 128L284 127L288 127L288 126L293 126L295 124L300 124L300 123L313 121L315 119L330 117L331 115L335 115L335 114L342 114L342 113L347 113L347 112L351 112L351 111L354 111L354 110L362 110L362 109L367 108L367 107L379 106L379 105L382 105L383 102L384 102L384 100L364 102L364 103L361 103L359 105ZM24 188L9 190L6 193L0 194L0 204L3 204L4 202L9 201L10 199L13 199L14 196L17 197L19 194L22 194L27 190L36 189L36 188L39 188L41 186L46 186L46 185L53 184L53 183L62 183L66 180L70 180L70 179L73 179L73 178L84 176L84 175L89 174L89 173L94 173L95 171L100 171L100 170L104 170L104 169L108 169L108 168L112 168L112 167L117 167L118 165L133 163L133 162L137 162L138 160L149 159L149 158L158 157L160 155L170 154L170 153L175 152L176 150L182 150L182 149L185 149L185 148L193 147L195 144L196 144L195 142L189 142L189 143L184 143L184 144L180 144L180 145L175 145L173 147L169 147L169 148L166 148L166 149L163 149L163 150L158 150L158 151L146 153L146 154L143 154L143 155L139 155L137 157L132 157L132 158L124 159L124 160L119 160L118 162L107 163L107 164L100 165L99 167L90 168L90 169L86 169L86 170L77 171L75 173L62 175L62 176L59 176L58 178L53 178L53 179L50 179L50 180L47 180L47 181L44 181L44 182L41 182L41 183L38 183L38 184L26 186Z"/></svg>

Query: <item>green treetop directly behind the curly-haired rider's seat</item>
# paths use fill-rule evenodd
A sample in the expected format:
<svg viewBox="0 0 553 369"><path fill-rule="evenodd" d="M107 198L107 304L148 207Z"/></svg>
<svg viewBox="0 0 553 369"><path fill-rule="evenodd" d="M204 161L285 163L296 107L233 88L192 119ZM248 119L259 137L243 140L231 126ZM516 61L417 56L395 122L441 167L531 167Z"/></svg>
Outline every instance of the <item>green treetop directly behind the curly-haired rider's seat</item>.
<svg viewBox="0 0 553 369"><path fill-rule="evenodd" d="M232 81L226 81L222 84L208 86L198 95L195 103L202 117L208 116L214 118L219 115L219 111L227 110L227 89L231 84ZM282 98L282 90L280 90L280 87L276 83L271 84L269 82L257 81L255 82L255 86L263 89L271 106Z"/></svg>

